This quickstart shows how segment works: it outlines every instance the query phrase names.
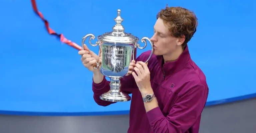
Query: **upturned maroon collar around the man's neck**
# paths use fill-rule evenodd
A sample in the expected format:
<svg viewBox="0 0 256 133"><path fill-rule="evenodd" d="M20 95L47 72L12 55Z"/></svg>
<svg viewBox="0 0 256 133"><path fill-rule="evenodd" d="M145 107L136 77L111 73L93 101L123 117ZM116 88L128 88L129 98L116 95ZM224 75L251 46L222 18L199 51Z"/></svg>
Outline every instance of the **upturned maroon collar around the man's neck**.
<svg viewBox="0 0 256 133"><path fill-rule="evenodd" d="M163 69L166 76L181 70L191 61L190 54L188 51L188 46L186 46L186 48L184 49L184 51L181 53L181 55L176 61L163 64L164 63L163 56L157 56L157 59L158 59L159 65Z"/></svg>

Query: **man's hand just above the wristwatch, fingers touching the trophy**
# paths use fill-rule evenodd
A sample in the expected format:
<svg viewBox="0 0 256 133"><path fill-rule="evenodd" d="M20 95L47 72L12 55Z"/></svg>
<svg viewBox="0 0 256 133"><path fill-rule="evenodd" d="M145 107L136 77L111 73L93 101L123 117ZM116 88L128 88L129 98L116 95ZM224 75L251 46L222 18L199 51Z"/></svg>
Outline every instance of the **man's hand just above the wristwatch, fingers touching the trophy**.
<svg viewBox="0 0 256 133"><path fill-rule="evenodd" d="M142 95L144 93L148 93L149 91L152 91L151 83L150 83L150 72L147 64L144 62L138 61L134 67L134 70L136 71L137 74L134 71L132 72L135 82Z"/></svg>

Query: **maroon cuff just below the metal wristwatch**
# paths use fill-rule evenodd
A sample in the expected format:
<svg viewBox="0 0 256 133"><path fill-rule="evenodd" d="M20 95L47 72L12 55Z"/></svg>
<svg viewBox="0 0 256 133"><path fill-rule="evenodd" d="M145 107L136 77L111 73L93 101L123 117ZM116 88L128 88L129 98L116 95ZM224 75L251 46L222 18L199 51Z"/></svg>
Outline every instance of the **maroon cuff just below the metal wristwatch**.
<svg viewBox="0 0 256 133"><path fill-rule="evenodd" d="M155 108L149 110L146 114L147 114L149 123L151 123L159 118L164 117L164 115L159 107L155 107Z"/></svg>

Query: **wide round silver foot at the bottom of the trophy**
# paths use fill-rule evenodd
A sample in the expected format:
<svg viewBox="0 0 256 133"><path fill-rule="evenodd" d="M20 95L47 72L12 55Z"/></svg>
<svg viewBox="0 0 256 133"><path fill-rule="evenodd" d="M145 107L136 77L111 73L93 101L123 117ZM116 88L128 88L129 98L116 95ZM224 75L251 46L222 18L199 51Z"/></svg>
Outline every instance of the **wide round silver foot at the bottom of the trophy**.
<svg viewBox="0 0 256 133"><path fill-rule="evenodd" d="M113 90L109 90L107 93L102 94L100 99L111 102L126 102L130 101L131 97L123 92L115 92Z"/></svg>

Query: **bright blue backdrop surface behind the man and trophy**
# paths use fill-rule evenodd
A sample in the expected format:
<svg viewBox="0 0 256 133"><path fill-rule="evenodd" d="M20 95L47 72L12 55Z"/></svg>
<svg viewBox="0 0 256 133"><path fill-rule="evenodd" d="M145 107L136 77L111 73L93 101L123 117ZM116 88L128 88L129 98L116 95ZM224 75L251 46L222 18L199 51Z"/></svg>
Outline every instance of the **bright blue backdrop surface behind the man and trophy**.
<svg viewBox="0 0 256 133"><path fill-rule="evenodd" d="M198 29L189 42L191 58L209 85L207 105L256 96L254 0L37 0L57 33L81 45L82 37L112 30L121 9L125 32L153 35L156 14L169 6L195 12ZM130 102L98 106L92 72L78 51L49 35L30 1L0 1L0 113L105 115L129 113ZM96 40L92 41L93 43ZM88 44L88 40L86 41ZM98 47L88 47L97 52ZM150 50L150 45L142 52Z"/></svg>

